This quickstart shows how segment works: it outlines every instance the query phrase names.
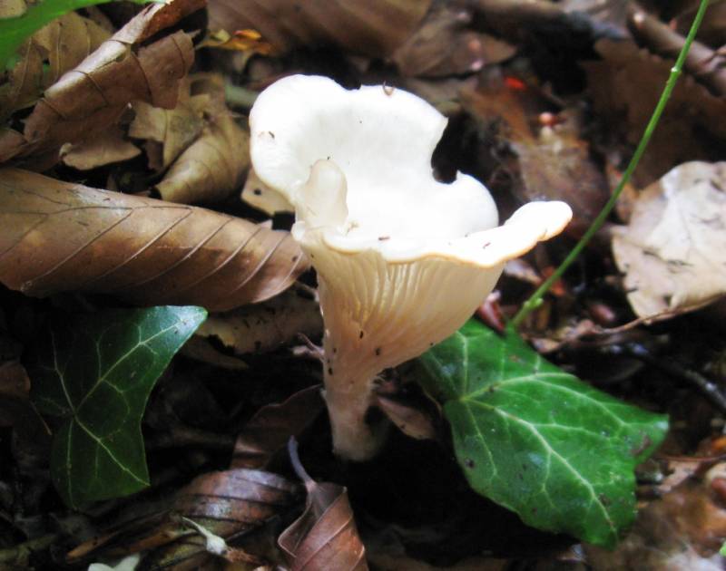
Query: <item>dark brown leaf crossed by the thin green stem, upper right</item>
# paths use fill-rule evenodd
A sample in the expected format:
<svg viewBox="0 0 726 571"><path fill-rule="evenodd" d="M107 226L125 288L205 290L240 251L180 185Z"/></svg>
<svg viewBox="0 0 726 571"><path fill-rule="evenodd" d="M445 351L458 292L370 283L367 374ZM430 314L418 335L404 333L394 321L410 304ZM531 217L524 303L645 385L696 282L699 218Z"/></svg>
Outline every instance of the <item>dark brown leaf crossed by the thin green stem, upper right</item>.
<svg viewBox="0 0 726 571"><path fill-rule="evenodd" d="M643 135L673 63L629 41L600 40L595 49L603 61L582 64L595 111L608 131L634 146ZM633 183L643 188L683 162L722 158L718 141L726 139L723 117L726 100L714 97L691 77L682 77L648 152L633 174ZM709 133L712 141L704 137ZM626 154L631 152L629 149Z"/></svg>

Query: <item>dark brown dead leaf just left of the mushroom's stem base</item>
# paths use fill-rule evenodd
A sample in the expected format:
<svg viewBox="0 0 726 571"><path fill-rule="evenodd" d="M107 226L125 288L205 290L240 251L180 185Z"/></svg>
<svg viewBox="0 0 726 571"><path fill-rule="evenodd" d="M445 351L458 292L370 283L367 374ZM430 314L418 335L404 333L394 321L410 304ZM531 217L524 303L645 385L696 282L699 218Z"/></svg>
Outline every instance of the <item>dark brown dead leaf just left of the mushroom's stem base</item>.
<svg viewBox="0 0 726 571"><path fill-rule="evenodd" d="M298 437L325 408L320 386L291 395L285 402L263 406L237 435L232 468L265 469L284 450L290 437Z"/></svg>

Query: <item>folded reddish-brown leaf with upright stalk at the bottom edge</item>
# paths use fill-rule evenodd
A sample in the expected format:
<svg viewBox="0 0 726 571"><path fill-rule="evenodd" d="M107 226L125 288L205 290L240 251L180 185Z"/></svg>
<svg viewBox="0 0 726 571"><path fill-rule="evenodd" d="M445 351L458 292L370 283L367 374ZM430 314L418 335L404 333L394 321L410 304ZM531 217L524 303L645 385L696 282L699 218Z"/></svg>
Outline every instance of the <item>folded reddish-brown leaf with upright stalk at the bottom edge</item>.
<svg viewBox="0 0 726 571"><path fill-rule="evenodd" d="M337 484L319 484L300 464L296 440L290 460L308 490L305 511L278 538L290 571L365 571L366 547L358 537L348 491Z"/></svg>

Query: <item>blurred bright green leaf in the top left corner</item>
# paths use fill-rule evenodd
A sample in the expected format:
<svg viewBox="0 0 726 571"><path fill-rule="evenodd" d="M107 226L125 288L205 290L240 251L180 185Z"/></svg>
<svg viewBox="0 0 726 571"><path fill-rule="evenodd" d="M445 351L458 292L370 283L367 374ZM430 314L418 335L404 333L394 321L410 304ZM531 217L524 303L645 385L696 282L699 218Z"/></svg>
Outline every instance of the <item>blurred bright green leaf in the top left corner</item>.
<svg viewBox="0 0 726 571"><path fill-rule="evenodd" d="M152 0L132 0L145 4ZM0 16L0 69L7 69L7 61L25 38L40 30L45 24L62 15L87 6L104 4L111 0L26 0L23 14L15 17Z"/></svg>

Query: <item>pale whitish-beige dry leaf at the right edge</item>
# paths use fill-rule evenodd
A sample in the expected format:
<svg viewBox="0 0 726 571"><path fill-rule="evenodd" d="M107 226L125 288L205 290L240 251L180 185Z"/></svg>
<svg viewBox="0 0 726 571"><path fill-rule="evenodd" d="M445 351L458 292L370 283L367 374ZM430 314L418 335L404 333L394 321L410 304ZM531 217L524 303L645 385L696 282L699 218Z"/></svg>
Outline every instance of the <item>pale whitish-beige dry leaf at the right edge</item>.
<svg viewBox="0 0 726 571"><path fill-rule="evenodd" d="M726 162L689 162L643 190L613 236L640 317L698 308L726 294Z"/></svg>

